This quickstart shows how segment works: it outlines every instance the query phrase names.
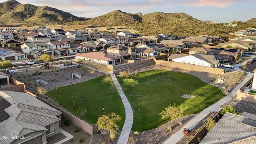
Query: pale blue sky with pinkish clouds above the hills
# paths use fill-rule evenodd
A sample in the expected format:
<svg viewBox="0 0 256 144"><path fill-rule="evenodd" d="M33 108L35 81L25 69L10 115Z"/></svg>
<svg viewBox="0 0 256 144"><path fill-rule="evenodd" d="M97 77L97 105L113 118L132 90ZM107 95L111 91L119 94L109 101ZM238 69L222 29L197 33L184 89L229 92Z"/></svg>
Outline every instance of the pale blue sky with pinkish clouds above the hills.
<svg viewBox="0 0 256 144"><path fill-rule="evenodd" d="M4 2L6 0L0 0ZM256 0L17 0L93 18L114 10L128 13L184 12L203 21L231 22L256 18Z"/></svg>

